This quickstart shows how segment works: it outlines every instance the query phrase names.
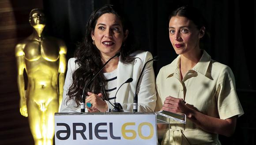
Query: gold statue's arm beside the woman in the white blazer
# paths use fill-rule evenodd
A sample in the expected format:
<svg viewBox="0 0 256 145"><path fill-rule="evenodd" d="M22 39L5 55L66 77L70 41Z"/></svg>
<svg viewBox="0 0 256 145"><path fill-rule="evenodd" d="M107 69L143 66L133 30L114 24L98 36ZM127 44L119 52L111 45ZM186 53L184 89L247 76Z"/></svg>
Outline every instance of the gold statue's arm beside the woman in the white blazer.
<svg viewBox="0 0 256 145"><path fill-rule="evenodd" d="M59 110L60 105L62 102L63 97L63 86L65 81L65 72L66 72L66 54L67 54L67 47L65 46L64 42L60 42L60 65L59 65Z"/></svg>

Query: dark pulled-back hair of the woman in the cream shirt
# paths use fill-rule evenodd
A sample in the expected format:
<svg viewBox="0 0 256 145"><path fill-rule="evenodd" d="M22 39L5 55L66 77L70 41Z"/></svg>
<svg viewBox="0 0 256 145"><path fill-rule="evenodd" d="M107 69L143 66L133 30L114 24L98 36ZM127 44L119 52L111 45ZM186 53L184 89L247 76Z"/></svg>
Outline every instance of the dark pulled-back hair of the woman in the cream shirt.
<svg viewBox="0 0 256 145"><path fill-rule="evenodd" d="M207 49L207 43L210 40L210 33L207 30L208 24L202 13L196 8L189 5L178 7L169 15L169 21L174 16L186 17L191 20L198 30L205 27L205 35L200 39L200 48Z"/></svg>

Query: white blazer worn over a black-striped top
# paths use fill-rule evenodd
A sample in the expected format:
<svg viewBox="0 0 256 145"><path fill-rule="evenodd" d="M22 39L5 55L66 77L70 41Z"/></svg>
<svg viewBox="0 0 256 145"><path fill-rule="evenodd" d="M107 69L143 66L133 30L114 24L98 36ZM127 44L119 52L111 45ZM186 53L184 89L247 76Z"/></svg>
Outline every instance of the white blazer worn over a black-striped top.
<svg viewBox="0 0 256 145"><path fill-rule="evenodd" d="M117 66L117 89L122 83L129 78L132 78L131 83L125 83L117 92L116 102L120 103L125 112L132 112L133 110L133 96L136 91L136 83L139 79L139 74L143 66L148 60L152 59L152 54L148 51L136 51L131 54L135 61L131 63L123 63L121 56ZM75 58L68 60L68 71L64 83L63 99L60 107L60 112L80 112L80 105L77 107L75 100L68 100L68 89L72 84L72 73L78 68L75 64ZM138 85L138 112L153 112L156 105L156 89L155 76L153 69L153 61L147 63ZM108 104L109 109L113 106ZM87 112L87 109L85 110Z"/></svg>

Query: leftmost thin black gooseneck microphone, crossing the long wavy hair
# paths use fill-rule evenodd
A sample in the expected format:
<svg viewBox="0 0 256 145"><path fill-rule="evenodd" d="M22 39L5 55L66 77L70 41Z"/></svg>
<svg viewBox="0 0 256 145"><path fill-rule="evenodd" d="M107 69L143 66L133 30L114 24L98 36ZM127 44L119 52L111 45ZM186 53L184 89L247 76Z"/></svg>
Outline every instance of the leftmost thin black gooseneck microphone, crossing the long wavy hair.
<svg viewBox="0 0 256 145"><path fill-rule="evenodd" d="M104 67L109 63L109 61L115 57L119 57L120 56L120 52L117 52L112 58L109 58L109 60L107 62L105 62L105 64L102 66L102 68L94 75L94 77L83 87L83 94L82 94L82 100L81 100L81 112L85 112L85 95L84 95L84 91L85 89L89 86L89 84L95 79L96 76L98 76L98 74L102 71L102 69L104 69ZM87 103L87 107L91 107L91 103L88 102Z"/></svg>

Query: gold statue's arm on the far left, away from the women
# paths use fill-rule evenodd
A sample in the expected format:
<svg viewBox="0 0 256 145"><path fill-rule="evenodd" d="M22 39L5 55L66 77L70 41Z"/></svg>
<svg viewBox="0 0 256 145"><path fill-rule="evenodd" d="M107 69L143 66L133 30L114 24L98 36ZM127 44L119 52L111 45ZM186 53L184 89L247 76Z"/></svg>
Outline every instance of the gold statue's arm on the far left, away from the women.
<svg viewBox="0 0 256 145"><path fill-rule="evenodd" d="M20 101L19 101L19 111L22 116L27 117L27 107L26 107L26 91L25 91L25 83L24 83L24 76L23 71L25 69L25 60L24 60L24 44L17 44L15 47L15 57L17 61L17 70L18 70L18 76L17 76L17 82L18 82L18 89L19 89L19 95L20 95Z"/></svg>

